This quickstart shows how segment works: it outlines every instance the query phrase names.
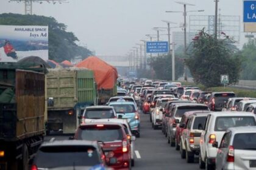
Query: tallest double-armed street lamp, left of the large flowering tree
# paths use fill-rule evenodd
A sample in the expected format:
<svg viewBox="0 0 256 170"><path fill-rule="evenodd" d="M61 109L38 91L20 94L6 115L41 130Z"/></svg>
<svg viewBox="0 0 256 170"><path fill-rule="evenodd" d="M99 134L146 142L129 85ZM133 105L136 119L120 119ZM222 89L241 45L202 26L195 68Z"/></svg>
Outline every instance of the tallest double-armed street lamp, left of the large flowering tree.
<svg viewBox="0 0 256 170"><path fill-rule="evenodd" d="M218 1L218 0L216 0ZM191 10L191 11L187 11L186 7L187 5L193 5L193 4L188 4L185 2L180 2L180 1L176 1L177 4L182 4L184 7L184 11L183 11L183 16L184 16L184 55L186 56L187 54L187 23L186 23L186 16L187 16L187 12L204 12L204 10ZM166 12L181 12L181 11L166 11ZM184 56L184 57L185 57ZM187 81L187 70L186 70L186 65L184 64L184 80Z"/></svg>

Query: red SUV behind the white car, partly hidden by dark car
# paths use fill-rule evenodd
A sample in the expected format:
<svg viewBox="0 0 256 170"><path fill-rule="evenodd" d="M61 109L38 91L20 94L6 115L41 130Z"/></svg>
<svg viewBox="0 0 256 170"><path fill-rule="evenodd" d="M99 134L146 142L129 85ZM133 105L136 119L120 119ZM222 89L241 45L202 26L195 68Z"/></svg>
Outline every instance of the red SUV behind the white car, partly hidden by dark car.
<svg viewBox="0 0 256 170"><path fill-rule="evenodd" d="M113 169L131 169L130 142L123 124L111 122L83 124L77 128L74 139L98 141L108 166Z"/></svg>

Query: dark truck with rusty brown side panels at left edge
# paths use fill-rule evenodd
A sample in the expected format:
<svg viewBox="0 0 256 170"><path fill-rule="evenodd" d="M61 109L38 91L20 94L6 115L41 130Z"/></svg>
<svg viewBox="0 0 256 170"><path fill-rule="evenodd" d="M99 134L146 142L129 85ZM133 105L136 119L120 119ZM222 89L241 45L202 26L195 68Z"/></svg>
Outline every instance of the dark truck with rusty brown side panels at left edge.
<svg viewBox="0 0 256 170"><path fill-rule="evenodd" d="M43 142L44 73L0 67L0 169L28 170Z"/></svg>

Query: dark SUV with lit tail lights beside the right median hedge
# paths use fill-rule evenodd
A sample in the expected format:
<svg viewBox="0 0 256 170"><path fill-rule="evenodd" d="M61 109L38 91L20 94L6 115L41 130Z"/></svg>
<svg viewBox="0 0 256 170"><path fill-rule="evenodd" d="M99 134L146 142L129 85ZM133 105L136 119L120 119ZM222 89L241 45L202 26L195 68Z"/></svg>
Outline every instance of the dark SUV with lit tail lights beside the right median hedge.
<svg viewBox="0 0 256 170"><path fill-rule="evenodd" d="M234 92L213 92L208 98L207 106L212 111L221 111L230 97L235 97Z"/></svg>

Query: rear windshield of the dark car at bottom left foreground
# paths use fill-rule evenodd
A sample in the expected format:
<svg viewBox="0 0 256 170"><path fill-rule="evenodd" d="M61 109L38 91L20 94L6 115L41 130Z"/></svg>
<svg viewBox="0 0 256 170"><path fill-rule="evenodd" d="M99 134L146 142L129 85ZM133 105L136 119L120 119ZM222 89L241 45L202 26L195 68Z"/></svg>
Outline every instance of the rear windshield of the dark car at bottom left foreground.
<svg viewBox="0 0 256 170"><path fill-rule="evenodd" d="M45 146L35 158L38 168L94 166L100 164L97 150L90 146Z"/></svg>

